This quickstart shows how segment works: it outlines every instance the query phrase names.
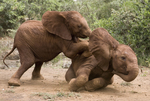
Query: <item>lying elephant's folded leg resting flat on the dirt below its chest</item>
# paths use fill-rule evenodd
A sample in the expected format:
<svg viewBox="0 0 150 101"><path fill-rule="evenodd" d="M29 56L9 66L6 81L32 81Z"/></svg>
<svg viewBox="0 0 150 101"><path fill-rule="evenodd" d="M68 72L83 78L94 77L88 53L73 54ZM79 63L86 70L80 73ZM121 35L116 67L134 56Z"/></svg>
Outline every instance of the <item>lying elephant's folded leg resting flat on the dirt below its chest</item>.
<svg viewBox="0 0 150 101"><path fill-rule="evenodd" d="M105 79L95 78L95 79L92 79L92 80L88 81L85 84L85 89L87 91L94 91L94 90L97 90L97 89L100 89L100 88L104 88L107 85L108 85L108 83Z"/></svg>

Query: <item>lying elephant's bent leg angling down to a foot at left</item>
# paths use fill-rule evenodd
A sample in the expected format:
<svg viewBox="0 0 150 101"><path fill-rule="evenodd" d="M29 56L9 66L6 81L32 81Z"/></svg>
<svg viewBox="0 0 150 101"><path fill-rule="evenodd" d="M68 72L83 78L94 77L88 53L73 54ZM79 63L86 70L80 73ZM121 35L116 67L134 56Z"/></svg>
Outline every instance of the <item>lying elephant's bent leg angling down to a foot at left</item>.
<svg viewBox="0 0 150 101"><path fill-rule="evenodd" d="M88 82L90 69L82 68L77 71L77 78L73 78L69 82L69 90L77 91L80 87L84 87L86 82Z"/></svg>

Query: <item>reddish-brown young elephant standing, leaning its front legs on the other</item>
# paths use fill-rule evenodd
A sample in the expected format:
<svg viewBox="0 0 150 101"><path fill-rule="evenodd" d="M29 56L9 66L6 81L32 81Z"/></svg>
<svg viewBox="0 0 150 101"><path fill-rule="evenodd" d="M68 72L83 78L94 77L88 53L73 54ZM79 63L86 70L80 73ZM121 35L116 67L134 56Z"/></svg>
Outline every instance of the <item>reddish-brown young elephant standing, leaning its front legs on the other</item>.
<svg viewBox="0 0 150 101"><path fill-rule="evenodd" d="M88 50L87 42L81 42L78 38L86 38L90 33L85 18L76 11L47 11L43 14L42 21L24 22L15 35L13 49L5 56L6 58L17 48L21 62L8 84L20 86L21 76L33 64L35 68L32 79L43 79L40 74L43 62L52 60L61 52L73 58ZM5 62L4 64L6 65Z"/></svg>

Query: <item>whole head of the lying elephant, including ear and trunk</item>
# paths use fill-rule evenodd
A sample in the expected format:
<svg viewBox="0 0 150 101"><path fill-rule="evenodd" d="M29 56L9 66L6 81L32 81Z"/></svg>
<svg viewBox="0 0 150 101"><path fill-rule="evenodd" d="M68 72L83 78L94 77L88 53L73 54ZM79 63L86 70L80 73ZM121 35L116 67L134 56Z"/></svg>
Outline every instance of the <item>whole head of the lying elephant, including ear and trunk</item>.
<svg viewBox="0 0 150 101"><path fill-rule="evenodd" d="M137 57L127 45L119 44L104 28L95 29L89 37L89 50L103 71L113 68L113 73L123 80L134 80L139 72Z"/></svg>

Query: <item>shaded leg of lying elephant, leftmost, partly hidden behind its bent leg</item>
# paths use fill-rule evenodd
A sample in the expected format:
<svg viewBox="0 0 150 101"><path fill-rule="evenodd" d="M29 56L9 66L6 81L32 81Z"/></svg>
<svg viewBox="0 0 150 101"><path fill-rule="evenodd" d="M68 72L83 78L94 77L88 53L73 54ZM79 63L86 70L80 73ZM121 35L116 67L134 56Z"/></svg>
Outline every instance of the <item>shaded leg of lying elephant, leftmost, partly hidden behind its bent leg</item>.
<svg viewBox="0 0 150 101"><path fill-rule="evenodd" d="M74 73L74 71L73 71L73 68L72 68L72 65L69 67L69 69L67 70L67 72L66 72L66 75L65 75L65 79L66 79L66 81L67 82L70 82L70 80L72 79L72 78L75 78L76 76L75 76L75 73Z"/></svg>

